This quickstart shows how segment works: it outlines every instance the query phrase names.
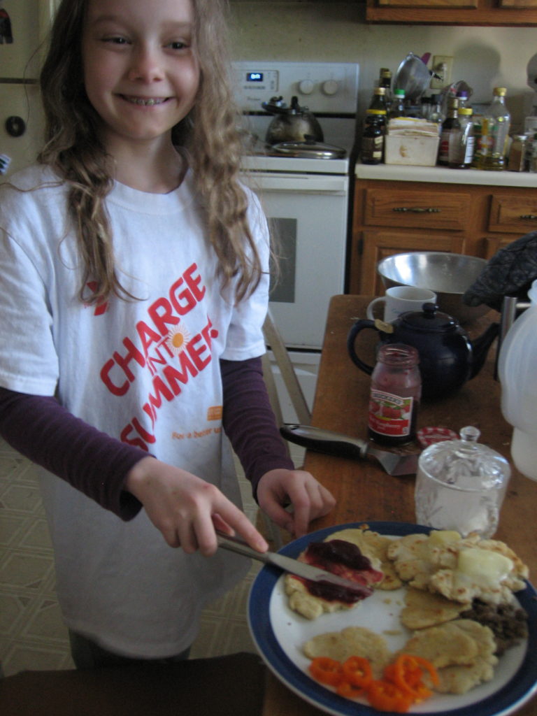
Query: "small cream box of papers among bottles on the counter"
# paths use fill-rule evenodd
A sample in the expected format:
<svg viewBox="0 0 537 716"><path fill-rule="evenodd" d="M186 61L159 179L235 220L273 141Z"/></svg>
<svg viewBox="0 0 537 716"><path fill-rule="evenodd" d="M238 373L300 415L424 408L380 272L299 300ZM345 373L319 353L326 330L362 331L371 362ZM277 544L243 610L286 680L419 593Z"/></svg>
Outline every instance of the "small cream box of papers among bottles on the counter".
<svg viewBox="0 0 537 716"><path fill-rule="evenodd" d="M435 122L416 117L395 117L384 137L384 163L434 167L440 136Z"/></svg>

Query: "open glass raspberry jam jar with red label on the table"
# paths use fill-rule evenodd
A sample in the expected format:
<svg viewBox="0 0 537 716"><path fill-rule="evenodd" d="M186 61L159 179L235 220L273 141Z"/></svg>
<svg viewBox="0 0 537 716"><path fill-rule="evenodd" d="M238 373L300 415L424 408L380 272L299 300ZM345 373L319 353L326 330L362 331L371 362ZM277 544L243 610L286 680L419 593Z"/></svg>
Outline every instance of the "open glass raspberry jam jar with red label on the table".
<svg viewBox="0 0 537 716"><path fill-rule="evenodd" d="M422 381L417 349L402 343L379 347L371 375L369 436L384 445L402 445L416 434Z"/></svg>

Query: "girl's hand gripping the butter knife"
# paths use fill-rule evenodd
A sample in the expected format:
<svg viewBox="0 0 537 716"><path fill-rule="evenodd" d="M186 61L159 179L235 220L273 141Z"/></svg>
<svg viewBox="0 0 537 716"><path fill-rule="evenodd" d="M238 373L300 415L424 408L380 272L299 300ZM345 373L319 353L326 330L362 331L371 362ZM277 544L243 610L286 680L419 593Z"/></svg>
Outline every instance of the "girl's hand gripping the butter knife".
<svg viewBox="0 0 537 716"><path fill-rule="evenodd" d="M238 533L259 552L269 546L246 515L215 485L156 458L142 458L127 473L125 489L140 500L147 516L171 547L211 556L215 530Z"/></svg>

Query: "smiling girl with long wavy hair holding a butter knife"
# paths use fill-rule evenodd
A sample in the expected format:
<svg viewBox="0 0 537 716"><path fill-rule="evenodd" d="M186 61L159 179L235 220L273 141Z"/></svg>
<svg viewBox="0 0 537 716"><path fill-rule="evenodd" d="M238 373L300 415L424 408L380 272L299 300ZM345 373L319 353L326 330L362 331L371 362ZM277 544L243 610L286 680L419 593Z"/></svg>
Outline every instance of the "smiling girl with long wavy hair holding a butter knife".
<svg viewBox="0 0 537 716"><path fill-rule="evenodd" d="M218 0L63 0L47 142L0 192L0 432L40 466L78 666L183 656L248 566L215 529L266 549L230 442L280 526L334 505L263 383L269 236L223 22Z"/></svg>

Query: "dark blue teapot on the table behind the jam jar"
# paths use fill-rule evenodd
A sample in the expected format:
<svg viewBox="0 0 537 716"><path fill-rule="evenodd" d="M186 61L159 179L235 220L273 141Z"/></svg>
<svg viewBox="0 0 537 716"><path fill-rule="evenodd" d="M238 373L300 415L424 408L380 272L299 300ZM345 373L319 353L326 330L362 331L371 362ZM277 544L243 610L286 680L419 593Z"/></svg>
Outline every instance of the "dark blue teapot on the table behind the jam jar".
<svg viewBox="0 0 537 716"><path fill-rule="evenodd" d="M470 341L457 319L438 311L436 304L423 304L422 311L408 311L392 323L361 319L349 332L347 350L352 361L370 375L373 367L358 357L354 347L357 335L364 329L377 331L381 343L414 346L420 354L422 397L436 400L478 374L499 326L490 324L478 339Z"/></svg>

